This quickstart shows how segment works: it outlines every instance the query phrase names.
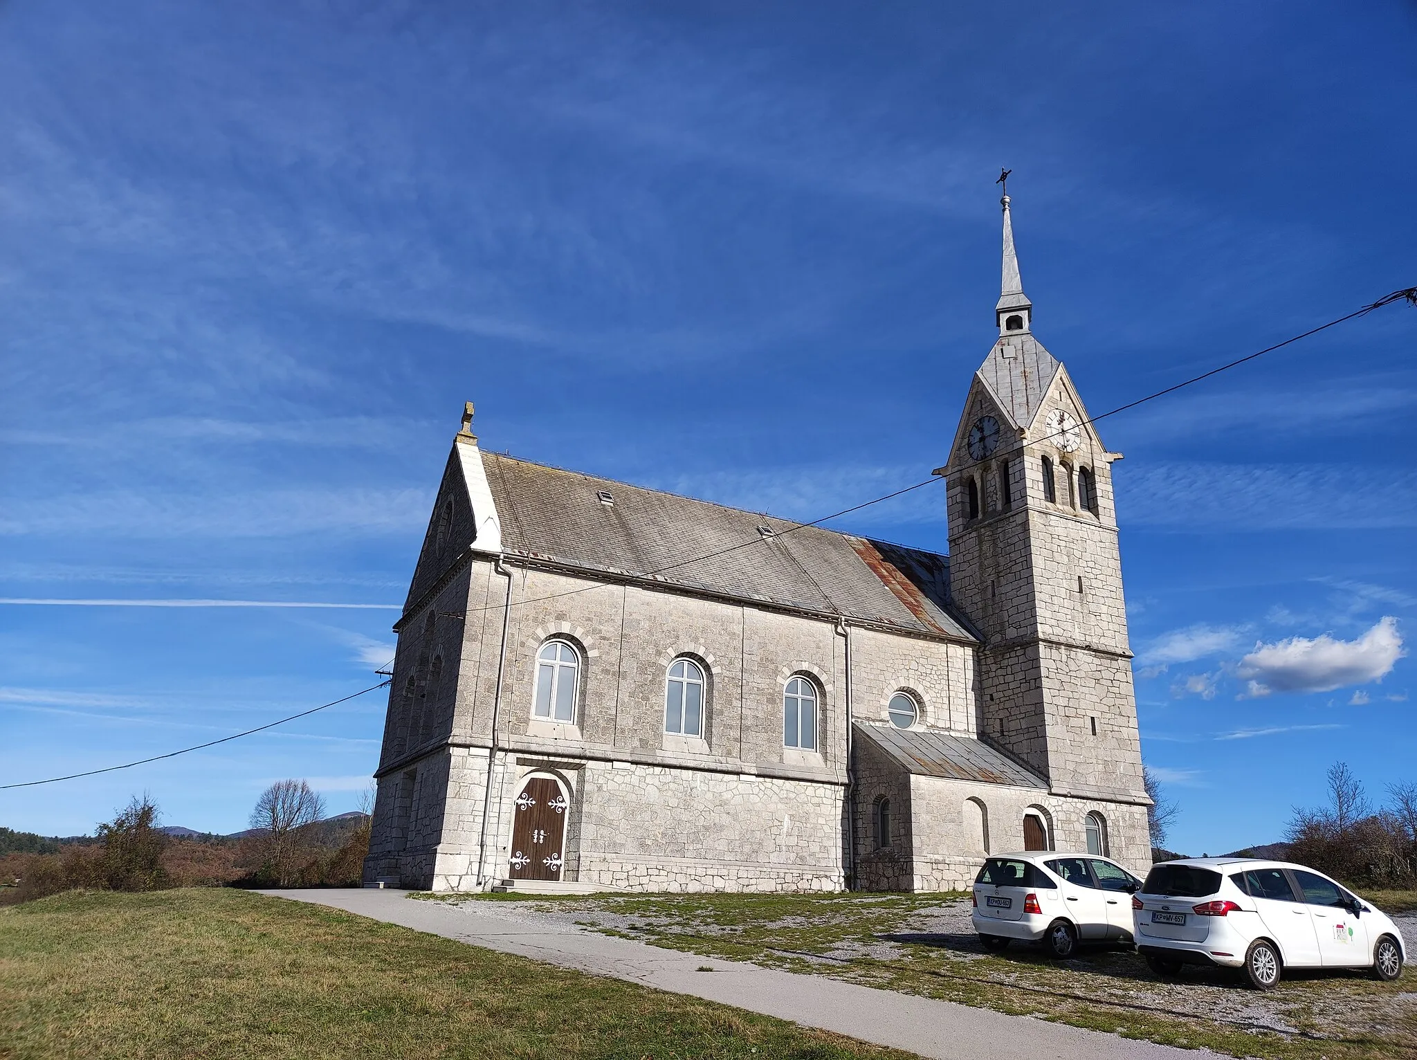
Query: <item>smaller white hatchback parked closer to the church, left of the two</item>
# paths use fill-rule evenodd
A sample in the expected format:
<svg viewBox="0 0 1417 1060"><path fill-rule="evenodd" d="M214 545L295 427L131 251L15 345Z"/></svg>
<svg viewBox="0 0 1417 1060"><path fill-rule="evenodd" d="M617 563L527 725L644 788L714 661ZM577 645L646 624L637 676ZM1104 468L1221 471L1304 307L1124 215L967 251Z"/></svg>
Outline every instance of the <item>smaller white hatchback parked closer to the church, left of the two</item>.
<svg viewBox="0 0 1417 1060"><path fill-rule="evenodd" d="M1068 958L1078 942L1131 942L1131 894L1139 887L1122 866L1097 855L995 855L975 877L971 918L985 949L1017 940Z"/></svg>

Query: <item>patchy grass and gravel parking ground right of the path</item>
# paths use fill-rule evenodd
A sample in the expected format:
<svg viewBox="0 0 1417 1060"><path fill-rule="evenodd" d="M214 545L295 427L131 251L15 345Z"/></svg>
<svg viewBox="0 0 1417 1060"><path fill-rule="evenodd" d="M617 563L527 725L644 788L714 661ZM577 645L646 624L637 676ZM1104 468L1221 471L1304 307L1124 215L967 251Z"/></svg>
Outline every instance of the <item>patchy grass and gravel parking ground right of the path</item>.
<svg viewBox="0 0 1417 1060"><path fill-rule="evenodd" d="M513 896L424 900L496 901ZM1403 893L1365 896L1404 906ZM1407 898L1413 897L1410 893ZM968 896L625 894L527 900L521 913L704 957L829 975L1163 1044L1277 1060L1417 1060L1417 976L1291 972L1268 993L1238 974L1158 979L1122 947L1057 962L1039 951L982 949ZM1413 940L1408 937L1408 944Z"/></svg>

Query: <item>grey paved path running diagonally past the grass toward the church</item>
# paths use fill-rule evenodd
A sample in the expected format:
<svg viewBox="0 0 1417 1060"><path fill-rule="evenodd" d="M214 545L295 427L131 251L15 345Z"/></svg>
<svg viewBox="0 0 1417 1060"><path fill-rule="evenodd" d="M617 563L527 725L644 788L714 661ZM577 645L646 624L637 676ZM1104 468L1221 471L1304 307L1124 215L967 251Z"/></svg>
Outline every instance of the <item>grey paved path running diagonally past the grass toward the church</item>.
<svg viewBox="0 0 1417 1060"><path fill-rule="evenodd" d="M261 891L356 913L459 942L530 957L592 975L629 979L750 1012L833 1030L938 1060L1200 1060L1207 1050L1172 1049L1115 1034L1005 1016L816 975L697 957L574 927L519 920L500 903L410 901L395 890ZM713 968L714 972L700 972Z"/></svg>

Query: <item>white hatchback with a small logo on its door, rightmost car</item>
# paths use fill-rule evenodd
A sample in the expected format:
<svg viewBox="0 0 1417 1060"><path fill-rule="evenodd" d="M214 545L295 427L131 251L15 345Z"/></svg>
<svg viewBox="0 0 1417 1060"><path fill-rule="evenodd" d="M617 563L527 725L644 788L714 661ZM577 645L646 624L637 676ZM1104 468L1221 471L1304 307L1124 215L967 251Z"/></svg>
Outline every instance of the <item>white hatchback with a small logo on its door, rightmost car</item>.
<svg viewBox="0 0 1417 1060"><path fill-rule="evenodd" d="M1182 965L1244 968L1267 991L1284 968L1401 975L1401 931L1322 873L1288 862L1187 857L1152 866L1132 896L1136 948L1158 975Z"/></svg>

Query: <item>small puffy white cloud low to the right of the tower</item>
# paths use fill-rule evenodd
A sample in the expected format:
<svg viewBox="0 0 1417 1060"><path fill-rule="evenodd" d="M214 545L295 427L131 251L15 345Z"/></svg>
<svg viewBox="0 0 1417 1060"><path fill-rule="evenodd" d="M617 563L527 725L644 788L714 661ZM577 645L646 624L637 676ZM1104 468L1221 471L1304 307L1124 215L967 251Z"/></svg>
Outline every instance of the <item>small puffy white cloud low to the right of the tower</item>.
<svg viewBox="0 0 1417 1060"><path fill-rule="evenodd" d="M1332 692L1345 684L1382 680L1403 655L1397 619L1387 615L1355 641L1323 633L1257 643L1240 660L1236 673L1248 682L1248 697L1271 692Z"/></svg>

